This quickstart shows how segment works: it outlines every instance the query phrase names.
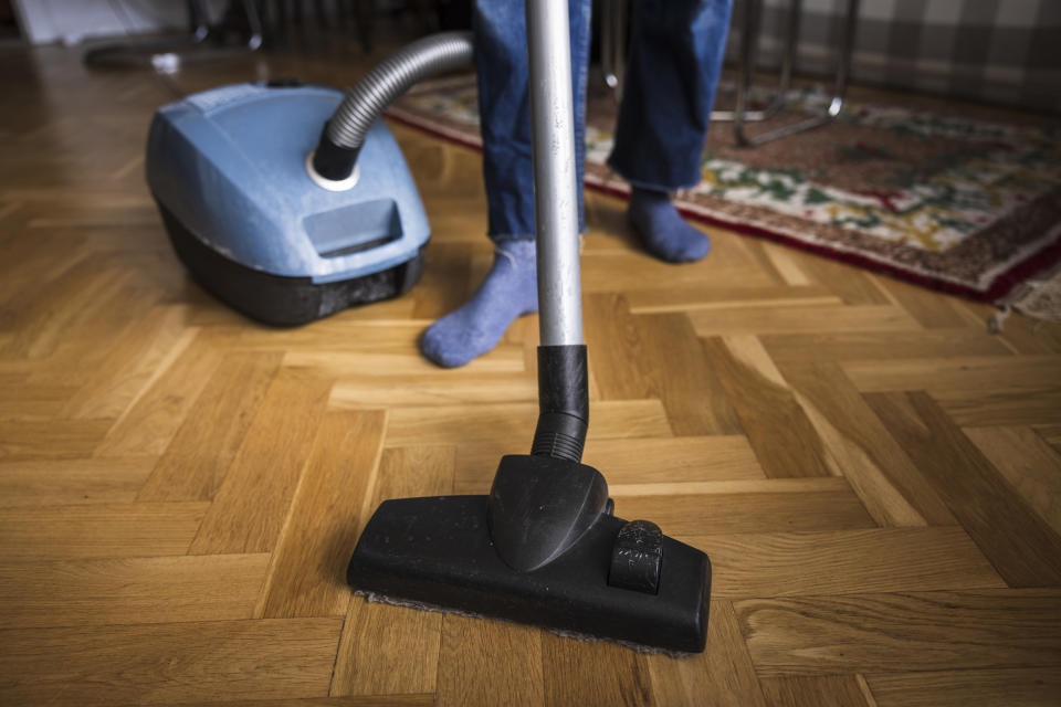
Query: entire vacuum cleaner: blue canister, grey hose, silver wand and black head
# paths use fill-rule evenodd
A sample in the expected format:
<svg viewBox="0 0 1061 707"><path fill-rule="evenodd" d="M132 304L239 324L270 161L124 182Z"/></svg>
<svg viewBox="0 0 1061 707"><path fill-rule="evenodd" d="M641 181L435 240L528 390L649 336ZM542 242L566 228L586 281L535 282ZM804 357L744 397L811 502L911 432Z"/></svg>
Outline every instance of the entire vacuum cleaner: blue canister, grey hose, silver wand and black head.
<svg viewBox="0 0 1061 707"><path fill-rule="evenodd" d="M347 580L387 601L702 651L707 557L650 521L614 517L603 475L581 464L589 393L567 13L567 0L527 0L542 339L530 453L502 457L489 496L381 504ZM429 228L379 116L417 81L471 56L468 33L443 33L345 97L272 81L159 109L147 179L177 254L220 299L273 325L408 289Z"/></svg>

